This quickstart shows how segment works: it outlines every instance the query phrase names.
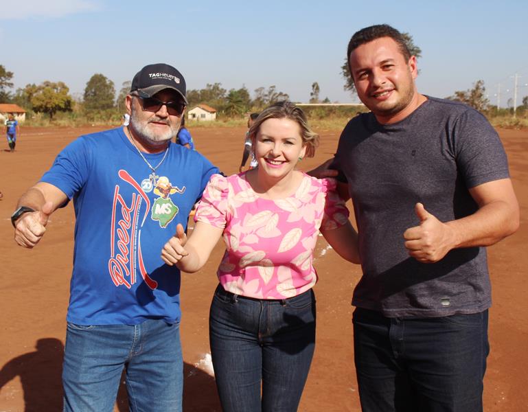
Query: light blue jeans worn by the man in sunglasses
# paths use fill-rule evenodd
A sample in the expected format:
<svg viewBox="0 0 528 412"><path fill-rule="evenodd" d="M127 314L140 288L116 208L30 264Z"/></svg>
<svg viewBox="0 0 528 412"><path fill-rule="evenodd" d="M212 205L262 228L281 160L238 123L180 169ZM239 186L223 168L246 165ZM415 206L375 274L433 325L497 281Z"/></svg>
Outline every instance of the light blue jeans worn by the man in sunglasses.
<svg viewBox="0 0 528 412"><path fill-rule="evenodd" d="M113 411L124 367L130 411L182 410L179 324L150 319L139 325L68 323L64 411Z"/></svg>

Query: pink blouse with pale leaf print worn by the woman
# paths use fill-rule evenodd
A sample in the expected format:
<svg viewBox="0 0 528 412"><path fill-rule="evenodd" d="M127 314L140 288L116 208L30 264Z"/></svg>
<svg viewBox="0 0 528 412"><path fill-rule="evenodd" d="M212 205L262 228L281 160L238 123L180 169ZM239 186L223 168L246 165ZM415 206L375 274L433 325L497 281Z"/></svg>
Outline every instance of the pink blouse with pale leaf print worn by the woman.
<svg viewBox="0 0 528 412"><path fill-rule="evenodd" d="M284 299L314 286L312 255L319 228L341 227L348 214L334 179L304 174L295 195L270 200L253 191L245 173L214 174L194 221L224 229L226 251L217 275L225 290Z"/></svg>

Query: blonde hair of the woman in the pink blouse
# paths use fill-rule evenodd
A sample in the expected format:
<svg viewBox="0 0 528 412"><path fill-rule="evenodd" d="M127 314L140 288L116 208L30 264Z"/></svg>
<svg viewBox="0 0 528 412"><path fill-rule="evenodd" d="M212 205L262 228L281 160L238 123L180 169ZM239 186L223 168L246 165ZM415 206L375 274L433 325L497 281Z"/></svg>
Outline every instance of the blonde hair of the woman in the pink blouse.
<svg viewBox="0 0 528 412"><path fill-rule="evenodd" d="M306 115L300 107L295 106L295 104L292 102L288 102L288 100L284 100L264 108L248 131L249 137L251 138L251 141L253 141L253 144L255 144L255 139L257 138L260 125L267 119L290 119L296 122L301 129L301 139L303 141L303 146L306 146L306 153L304 156L314 157L315 149L317 146L319 146L319 135L315 133L310 128L310 126L308 126Z"/></svg>

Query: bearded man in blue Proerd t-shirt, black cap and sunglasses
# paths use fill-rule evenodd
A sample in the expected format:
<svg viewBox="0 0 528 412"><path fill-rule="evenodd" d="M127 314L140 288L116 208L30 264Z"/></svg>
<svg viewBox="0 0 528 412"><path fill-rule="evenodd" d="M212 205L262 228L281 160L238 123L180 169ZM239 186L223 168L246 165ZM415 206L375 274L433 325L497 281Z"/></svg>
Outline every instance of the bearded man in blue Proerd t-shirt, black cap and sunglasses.
<svg viewBox="0 0 528 412"><path fill-rule="evenodd" d="M178 70L144 67L126 96L130 124L69 144L12 215L16 242L32 248L49 215L73 200L65 411L111 411L125 366L130 404L181 411L180 272L159 251L218 173L171 143L186 104Z"/></svg>

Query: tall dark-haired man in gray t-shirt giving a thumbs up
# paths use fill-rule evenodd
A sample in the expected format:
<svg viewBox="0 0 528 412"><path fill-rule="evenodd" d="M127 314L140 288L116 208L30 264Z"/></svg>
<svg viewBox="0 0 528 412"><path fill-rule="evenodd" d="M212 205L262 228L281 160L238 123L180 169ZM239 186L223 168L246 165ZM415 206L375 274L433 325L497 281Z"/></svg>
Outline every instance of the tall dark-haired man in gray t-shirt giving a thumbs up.
<svg viewBox="0 0 528 412"><path fill-rule="evenodd" d="M332 166L358 224L363 411L481 411L484 247L519 225L503 146L477 111L417 92L415 56L393 27L356 32L347 56L371 110L347 124Z"/></svg>

